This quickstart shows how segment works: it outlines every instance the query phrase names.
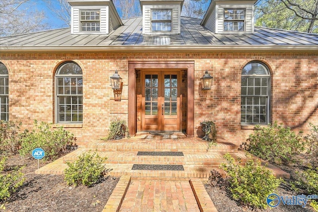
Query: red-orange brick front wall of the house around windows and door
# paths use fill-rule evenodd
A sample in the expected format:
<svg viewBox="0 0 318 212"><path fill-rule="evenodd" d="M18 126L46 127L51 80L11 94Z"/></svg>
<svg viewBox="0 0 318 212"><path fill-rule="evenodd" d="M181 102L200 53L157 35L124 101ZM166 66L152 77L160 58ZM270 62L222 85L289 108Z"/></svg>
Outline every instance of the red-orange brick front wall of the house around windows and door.
<svg viewBox="0 0 318 212"><path fill-rule="evenodd" d="M68 60L83 71L83 123L65 125L79 144L107 134L109 122L128 113L128 61L190 60L195 64L194 132L200 122L213 120L218 134L234 143L251 132L240 125L240 72L252 60L268 65L271 71L271 120L295 130L308 130L308 122L318 124L318 54L314 53L59 53L3 54L9 71L9 119L32 128L33 119L54 122L57 66ZM121 101L114 101L109 77L118 70L123 78ZM208 70L212 90L199 88ZM77 127L74 127L77 126Z"/></svg>

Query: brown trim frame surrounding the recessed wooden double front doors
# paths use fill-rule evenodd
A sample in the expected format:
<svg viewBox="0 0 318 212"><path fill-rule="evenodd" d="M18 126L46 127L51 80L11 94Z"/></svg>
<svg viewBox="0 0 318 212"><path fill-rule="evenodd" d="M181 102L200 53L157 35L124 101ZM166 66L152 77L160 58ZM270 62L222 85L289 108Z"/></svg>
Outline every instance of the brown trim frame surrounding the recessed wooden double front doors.
<svg viewBox="0 0 318 212"><path fill-rule="evenodd" d="M137 132L136 70L187 70L187 126L186 135L194 137L194 61L128 61L128 129Z"/></svg>

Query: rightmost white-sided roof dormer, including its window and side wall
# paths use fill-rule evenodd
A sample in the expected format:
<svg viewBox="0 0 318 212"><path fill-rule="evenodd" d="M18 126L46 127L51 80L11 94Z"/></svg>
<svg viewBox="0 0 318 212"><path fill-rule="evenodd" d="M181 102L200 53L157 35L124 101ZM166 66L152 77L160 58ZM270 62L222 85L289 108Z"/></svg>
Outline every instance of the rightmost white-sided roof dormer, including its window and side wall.
<svg viewBox="0 0 318 212"><path fill-rule="evenodd" d="M201 25L214 33L254 33L256 0L212 0Z"/></svg>

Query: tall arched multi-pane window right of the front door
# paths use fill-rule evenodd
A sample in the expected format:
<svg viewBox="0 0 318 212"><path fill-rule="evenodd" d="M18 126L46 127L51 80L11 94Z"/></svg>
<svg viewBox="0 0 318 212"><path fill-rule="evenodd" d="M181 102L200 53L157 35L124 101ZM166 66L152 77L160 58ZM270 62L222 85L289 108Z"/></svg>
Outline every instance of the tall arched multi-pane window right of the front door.
<svg viewBox="0 0 318 212"><path fill-rule="evenodd" d="M252 61L241 73L241 124L269 122L270 73L263 63Z"/></svg>

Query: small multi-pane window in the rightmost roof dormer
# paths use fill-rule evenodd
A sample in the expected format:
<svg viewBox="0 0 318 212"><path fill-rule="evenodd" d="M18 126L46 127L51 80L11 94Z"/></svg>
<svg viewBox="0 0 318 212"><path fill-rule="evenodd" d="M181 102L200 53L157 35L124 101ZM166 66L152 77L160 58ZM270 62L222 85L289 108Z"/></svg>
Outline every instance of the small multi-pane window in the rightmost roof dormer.
<svg viewBox="0 0 318 212"><path fill-rule="evenodd" d="M224 9L224 31L244 31L245 10Z"/></svg>

